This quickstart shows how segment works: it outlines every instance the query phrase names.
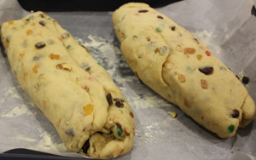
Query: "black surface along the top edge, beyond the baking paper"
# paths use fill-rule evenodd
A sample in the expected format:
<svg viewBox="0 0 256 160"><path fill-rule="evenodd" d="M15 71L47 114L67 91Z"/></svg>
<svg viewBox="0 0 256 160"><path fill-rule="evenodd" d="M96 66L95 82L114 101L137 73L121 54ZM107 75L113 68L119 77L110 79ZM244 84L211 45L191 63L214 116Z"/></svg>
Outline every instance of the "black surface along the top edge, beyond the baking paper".
<svg viewBox="0 0 256 160"><path fill-rule="evenodd" d="M152 8L163 7L180 0L18 0L27 11L114 11L130 2L148 3Z"/></svg>

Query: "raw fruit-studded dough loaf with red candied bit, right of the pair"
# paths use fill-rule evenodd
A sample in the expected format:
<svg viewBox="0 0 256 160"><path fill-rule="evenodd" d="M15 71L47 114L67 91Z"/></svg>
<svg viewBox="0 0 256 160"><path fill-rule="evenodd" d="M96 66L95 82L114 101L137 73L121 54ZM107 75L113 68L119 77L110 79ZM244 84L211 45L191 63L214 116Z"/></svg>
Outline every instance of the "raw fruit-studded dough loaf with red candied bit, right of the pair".
<svg viewBox="0 0 256 160"><path fill-rule="evenodd" d="M114 31L135 76L206 129L227 138L255 117L255 104L200 39L145 3L113 13Z"/></svg>

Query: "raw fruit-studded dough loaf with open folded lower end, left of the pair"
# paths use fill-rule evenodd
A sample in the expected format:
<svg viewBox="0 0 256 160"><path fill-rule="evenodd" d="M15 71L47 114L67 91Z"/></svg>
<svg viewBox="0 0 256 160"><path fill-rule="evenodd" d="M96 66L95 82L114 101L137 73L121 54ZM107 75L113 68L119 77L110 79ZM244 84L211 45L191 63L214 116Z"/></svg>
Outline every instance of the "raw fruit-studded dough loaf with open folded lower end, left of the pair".
<svg viewBox="0 0 256 160"><path fill-rule="evenodd" d="M107 71L43 12L3 24L1 36L22 89L68 151L111 158L131 150L134 119Z"/></svg>

